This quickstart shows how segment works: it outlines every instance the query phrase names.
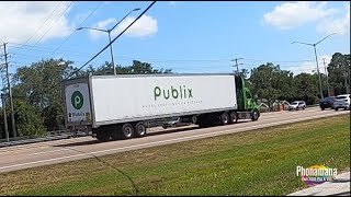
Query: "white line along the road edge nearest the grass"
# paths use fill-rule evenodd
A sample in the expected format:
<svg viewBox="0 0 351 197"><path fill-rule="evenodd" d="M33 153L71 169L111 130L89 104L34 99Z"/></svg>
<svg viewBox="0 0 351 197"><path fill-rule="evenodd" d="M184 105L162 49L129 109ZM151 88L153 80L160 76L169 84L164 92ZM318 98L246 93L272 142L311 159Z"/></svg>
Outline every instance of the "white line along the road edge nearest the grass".
<svg viewBox="0 0 351 197"><path fill-rule="evenodd" d="M347 113L342 113L342 114L347 114ZM116 149L101 150L101 151L95 151L95 152L90 152L90 153L81 153L81 154L75 154L75 155L68 155L68 157L61 157L61 158L54 158L54 159L48 159L48 160L41 160L41 161L34 161L34 162L27 162L27 163L20 163L20 164L14 164L14 165L2 166L2 167L0 167L0 170L18 167L18 166L25 166L25 165L37 164L37 163L45 163L45 162L50 162L50 161L65 160L65 159L71 159L71 158L78 158L78 157L87 157L87 155L92 157L91 154L104 153L104 152L111 152L111 151L117 151L117 150L124 150L124 149L133 149L133 148L139 148L139 147L147 147L147 146L150 146L150 144L161 144L161 143L165 143L165 142L179 141L179 140L183 140L183 139L194 139L194 138L205 137L205 136L219 136L218 134L233 132L233 131L238 131L238 130L244 130L244 129L258 129L258 128L263 128L263 127L278 126L278 125L282 125L282 124L295 123L295 121L299 121L299 120L308 120L308 119L314 119L314 118L318 118L318 117L328 117L328 116L331 116L331 115L333 115L333 114L328 114L328 115L322 114L322 115L318 115L318 116L295 118L295 119L288 119L288 120L279 121L279 123L269 123L269 124L263 124L263 125L258 125L258 126L242 127L242 128L238 128L236 130L229 129L229 130L216 131L216 132L211 132L211 134L203 134L203 135L196 135L196 136L190 136L190 137L182 137L182 138L176 138L176 139L169 139L169 140L162 140L162 141L155 141L155 142L135 144L135 146L129 146L129 147L116 148Z"/></svg>

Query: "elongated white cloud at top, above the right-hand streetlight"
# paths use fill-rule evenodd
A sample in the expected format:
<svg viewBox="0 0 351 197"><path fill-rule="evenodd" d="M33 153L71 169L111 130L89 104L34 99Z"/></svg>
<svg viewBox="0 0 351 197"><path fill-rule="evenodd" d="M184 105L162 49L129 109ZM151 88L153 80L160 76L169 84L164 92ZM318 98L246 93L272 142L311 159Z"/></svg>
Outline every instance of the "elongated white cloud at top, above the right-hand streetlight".
<svg viewBox="0 0 351 197"><path fill-rule="evenodd" d="M326 5L327 2L286 2L265 13L263 20L278 28L291 30L337 13L336 9L327 9Z"/></svg>

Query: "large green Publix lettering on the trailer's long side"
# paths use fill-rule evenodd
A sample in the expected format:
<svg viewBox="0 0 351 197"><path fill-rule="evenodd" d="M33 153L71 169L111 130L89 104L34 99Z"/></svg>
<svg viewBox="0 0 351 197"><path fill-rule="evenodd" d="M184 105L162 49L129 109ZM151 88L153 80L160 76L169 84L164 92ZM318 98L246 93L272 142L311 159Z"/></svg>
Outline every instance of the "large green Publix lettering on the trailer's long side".
<svg viewBox="0 0 351 197"><path fill-rule="evenodd" d="M190 99L193 97L193 89L186 89L185 85L179 85L179 89L173 89L173 85L171 85L171 89L161 89L160 86L154 88L154 96L155 101L158 97L163 97L165 100L169 100L170 97L177 100L177 99Z"/></svg>

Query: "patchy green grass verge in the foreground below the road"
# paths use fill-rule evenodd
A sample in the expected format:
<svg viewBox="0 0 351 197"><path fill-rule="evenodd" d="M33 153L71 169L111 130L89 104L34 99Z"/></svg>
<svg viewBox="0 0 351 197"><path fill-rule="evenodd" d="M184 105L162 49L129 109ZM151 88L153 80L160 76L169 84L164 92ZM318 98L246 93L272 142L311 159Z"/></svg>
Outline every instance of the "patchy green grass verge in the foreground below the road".
<svg viewBox="0 0 351 197"><path fill-rule="evenodd" d="M118 171L88 159L2 173L0 195L287 195L306 187L297 165L350 170L350 115L100 159Z"/></svg>

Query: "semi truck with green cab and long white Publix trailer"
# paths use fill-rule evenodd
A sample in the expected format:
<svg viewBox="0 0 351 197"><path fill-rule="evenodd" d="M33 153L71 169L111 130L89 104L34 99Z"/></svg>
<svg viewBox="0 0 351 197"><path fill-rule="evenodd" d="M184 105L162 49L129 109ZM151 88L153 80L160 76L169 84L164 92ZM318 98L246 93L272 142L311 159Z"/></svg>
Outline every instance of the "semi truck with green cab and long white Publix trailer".
<svg viewBox="0 0 351 197"><path fill-rule="evenodd" d="M88 76L63 82L65 125L86 129L100 141L145 137L158 120L211 127L258 120L257 96L240 76Z"/></svg>

